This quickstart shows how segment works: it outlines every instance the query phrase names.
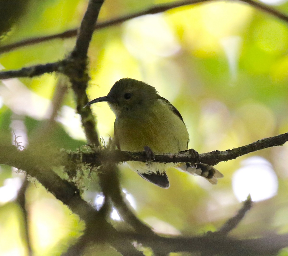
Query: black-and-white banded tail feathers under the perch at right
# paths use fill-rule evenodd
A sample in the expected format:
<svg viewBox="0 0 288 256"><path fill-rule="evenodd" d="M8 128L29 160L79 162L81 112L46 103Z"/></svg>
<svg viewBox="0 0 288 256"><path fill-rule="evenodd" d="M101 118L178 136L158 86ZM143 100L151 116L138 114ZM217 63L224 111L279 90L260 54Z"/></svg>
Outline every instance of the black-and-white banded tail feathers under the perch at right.
<svg viewBox="0 0 288 256"><path fill-rule="evenodd" d="M187 163L187 164L181 164L178 167L181 168L181 170L184 170L185 172L189 172L193 175L199 175L199 176L204 177L213 185L217 184L218 178L224 177L221 172L215 169L212 165L208 165L208 164Z"/></svg>

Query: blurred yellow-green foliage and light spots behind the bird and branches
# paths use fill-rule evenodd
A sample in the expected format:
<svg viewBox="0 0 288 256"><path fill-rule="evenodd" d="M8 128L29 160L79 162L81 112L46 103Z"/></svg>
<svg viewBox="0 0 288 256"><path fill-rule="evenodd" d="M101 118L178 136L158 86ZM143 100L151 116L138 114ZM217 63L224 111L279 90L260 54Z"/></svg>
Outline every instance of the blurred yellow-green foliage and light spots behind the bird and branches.
<svg viewBox="0 0 288 256"><path fill-rule="evenodd" d="M8 44L79 26L84 0L22 0L1 38ZM144 10L160 0L106 0L99 21ZM285 0L265 0L288 13ZM15 4L1 1L2 8ZM2 20L3 23L3 20ZM5 23L5 20L4 20ZM55 39L0 55L2 69L54 62L72 50L75 38ZM90 99L105 96L120 78L131 77L157 88L183 116L189 148L199 153L226 150L288 130L288 24L240 2L216 1L146 15L95 31L89 48ZM37 127L49 118L57 74L0 82L1 134L29 147ZM115 116L107 103L92 105L98 132L113 137ZM14 135L15 133L15 135ZM49 145L75 150L86 144L80 118L68 90ZM161 189L141 179L125 164L120 181L137 216L164 234L200 235L215 231L251 194L251 211L231 233L257 237L288 232L288 144L257 151L216 166L223 174L216 186L176 169L167 171L171 186ZM96 177L96 176L95 176ZM27 255L23 219L15 198L23 174L0 166L0 255ZM98 180L84 198L96 208L103 196ZM60 255L84 230L84 223L41 184L26 191L29 231L35 255ZM116 210L111 218L121 222ZM151 255L146 250L147 255ZM96 246L88 255L119 255ZM171 253L171 256L182 255ZM183 254L184 255L184 254ZM185 254L187 255L187 254ZM279 254L288 255L283 249Z"/></svg>

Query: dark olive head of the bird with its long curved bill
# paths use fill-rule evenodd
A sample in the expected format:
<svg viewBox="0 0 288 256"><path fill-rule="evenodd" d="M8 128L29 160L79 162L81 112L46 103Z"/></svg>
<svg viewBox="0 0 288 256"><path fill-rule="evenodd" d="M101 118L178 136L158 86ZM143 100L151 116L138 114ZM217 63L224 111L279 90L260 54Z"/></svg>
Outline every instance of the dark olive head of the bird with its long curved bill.
<svg viewBox="0 0 288 256"><path fill-rule="evenodd" d="M158 98L156 89L149 84L132 78L122 78L111 88L107 96L91 100L85 105L107 101L116 116L121 114L135 114L145 111Z"/></svg>

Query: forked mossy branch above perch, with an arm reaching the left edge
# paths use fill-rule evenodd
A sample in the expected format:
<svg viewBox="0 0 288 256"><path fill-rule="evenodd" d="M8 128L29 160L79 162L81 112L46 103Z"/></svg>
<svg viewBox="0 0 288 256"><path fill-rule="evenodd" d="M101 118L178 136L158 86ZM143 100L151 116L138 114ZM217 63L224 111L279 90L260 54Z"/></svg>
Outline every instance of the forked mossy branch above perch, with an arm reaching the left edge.
<svg viewBox="0 0 288 256"><path fill-rule="evenodd" d="M33 77L54 71L59 71L67 75L75 92L77 113L81 115L87 141L95 145L99 145L95 120L91 109L83 109L83 106L88 102L86 88L90 79L87 73L87 51L102 3L103 0L89 1L88 8L80 26L75 48L66 59L45 65L25 67L20 70L0 72L0 79Z"/></svg>

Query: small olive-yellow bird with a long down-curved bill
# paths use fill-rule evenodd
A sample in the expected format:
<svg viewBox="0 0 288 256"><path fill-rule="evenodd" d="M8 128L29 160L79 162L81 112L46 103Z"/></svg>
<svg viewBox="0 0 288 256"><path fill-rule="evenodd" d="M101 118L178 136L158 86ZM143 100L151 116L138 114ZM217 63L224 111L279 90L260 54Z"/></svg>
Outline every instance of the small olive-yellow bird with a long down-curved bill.
<svg viewBox="0 0 288 256"><path fill-rule="evenodd" d="M145 148L156 154L187 150L189 134L181 114L153 86L122 78L115 82L107 96L91 100L84 107L103 101L108 103L116 117L114 141L119 150L143 151ZM162 188L170 186L166 175L169 167L200 175L212 184L223 177L213 166L202 163L127 163L142 178Z"/></svg>

